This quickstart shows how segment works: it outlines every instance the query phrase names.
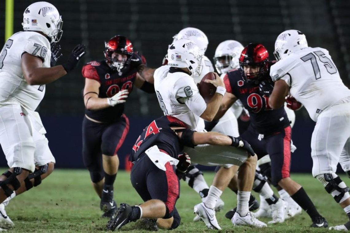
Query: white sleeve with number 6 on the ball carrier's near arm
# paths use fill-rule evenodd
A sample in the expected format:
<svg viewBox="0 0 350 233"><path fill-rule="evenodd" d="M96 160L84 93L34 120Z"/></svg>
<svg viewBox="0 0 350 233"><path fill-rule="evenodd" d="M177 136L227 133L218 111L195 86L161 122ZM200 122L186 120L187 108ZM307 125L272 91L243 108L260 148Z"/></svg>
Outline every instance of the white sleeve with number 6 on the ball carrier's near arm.
<svg viewBox="0 0 350 233"><path fill-rule="evenodd" d="M175 97L179 103L184 103L196 115L201 116L207 104L203 97L199 94L199 90L189 75L182 77L175 82Z"/></svg>

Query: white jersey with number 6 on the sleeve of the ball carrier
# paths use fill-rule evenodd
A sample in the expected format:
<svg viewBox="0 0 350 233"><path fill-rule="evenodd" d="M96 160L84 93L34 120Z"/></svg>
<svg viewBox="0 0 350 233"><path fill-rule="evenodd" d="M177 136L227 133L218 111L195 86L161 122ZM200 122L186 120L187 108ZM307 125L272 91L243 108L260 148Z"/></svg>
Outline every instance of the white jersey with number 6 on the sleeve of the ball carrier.
<svg viewBox="0 0 350 233"><path fill-rule="evenodd" d="M154 89L165 115L174 116L191 126L192 130L203 131L204 120L200 118L207 109L193 78L184 72L169 72L170 66L161 66L154 72Z"/></svg>

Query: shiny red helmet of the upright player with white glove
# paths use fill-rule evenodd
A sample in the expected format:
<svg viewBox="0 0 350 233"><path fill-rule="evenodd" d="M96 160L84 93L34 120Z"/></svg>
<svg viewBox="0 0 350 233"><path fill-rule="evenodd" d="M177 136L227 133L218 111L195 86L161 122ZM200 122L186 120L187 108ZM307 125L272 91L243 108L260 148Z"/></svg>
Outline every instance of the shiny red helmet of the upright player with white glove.
<svg viewBox="0 0 350 233"><path fill-rule="evenodd" d="M112 58L113 52L125 54L127 59L125 61ZM130 65L130 57L134 52L132 43L125 36L114 36L108 42L105 42L105 58L106 63L113 69L120 72L123 68L127 68Z"/></svg>

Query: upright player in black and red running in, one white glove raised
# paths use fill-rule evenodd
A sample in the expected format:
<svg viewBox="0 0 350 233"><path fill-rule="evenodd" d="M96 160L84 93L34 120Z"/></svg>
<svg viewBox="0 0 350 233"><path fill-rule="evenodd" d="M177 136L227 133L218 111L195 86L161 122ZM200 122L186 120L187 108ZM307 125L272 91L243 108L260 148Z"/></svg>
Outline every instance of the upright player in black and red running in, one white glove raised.
<svg viewBox="0 0 350 233"><path fill-rule="evenodd" d="M125 36L105 42L105 59L83 66L85 78L83 119L83 160L90 172L93 188L101 198L103 217L112 218L117 210L113 183L117 176L117 152L129 131L123 114L124 103L133 87L154 93L154 69L135 52ZM146 81L150 80L151 82Z"/></svg>

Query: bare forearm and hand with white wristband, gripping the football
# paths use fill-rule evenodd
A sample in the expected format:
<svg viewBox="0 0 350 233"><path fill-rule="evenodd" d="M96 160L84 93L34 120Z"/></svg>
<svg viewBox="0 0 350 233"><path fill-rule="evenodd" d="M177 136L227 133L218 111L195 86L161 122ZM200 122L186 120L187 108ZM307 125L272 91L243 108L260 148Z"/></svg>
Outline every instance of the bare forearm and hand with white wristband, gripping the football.
<svg viewBox="0 0 350 233"><path fill-rule="evenodd" d="M217 73L215 73L216 79L215 80L205 80L205 82L209 82L211 84L213 84L216 87L216 93L215 95L212 97L212 99L210 100L210 102L207 104L207 108L205 109L205 111L202 113L202 115L200 116L202 119L204 119L205 121L212 121L215 117L215 115L217 114L219 107L220 107L220 103L221 100L225 94L225 85L224 82L222 81L222 79L219 77L219 75Z"/></svg>

